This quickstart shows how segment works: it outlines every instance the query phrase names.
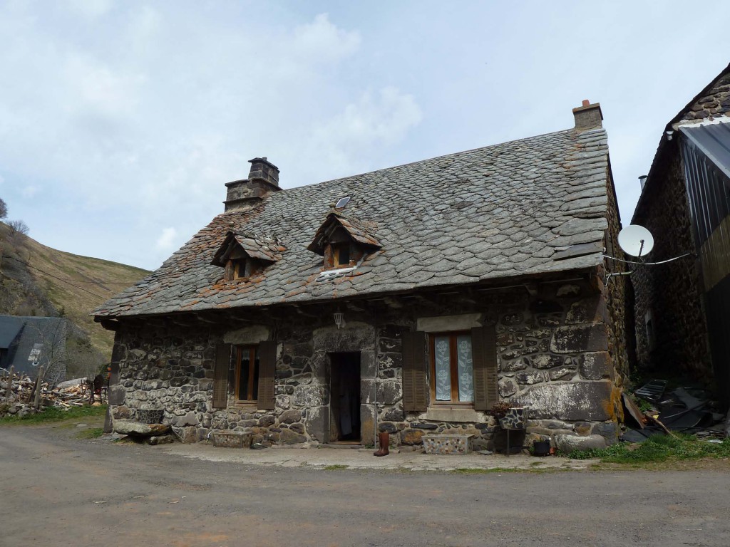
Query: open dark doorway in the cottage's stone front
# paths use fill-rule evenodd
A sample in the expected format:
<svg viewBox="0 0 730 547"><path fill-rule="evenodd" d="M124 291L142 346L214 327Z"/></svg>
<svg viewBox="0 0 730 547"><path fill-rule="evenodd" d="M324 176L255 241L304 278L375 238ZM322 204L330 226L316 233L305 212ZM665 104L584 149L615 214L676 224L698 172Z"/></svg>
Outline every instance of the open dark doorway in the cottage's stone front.
<svg viewBox="0 0 730 547"><path fill-rule="evenodd" d="M329 442L360 442L360 352L329 354Z"/></svg>

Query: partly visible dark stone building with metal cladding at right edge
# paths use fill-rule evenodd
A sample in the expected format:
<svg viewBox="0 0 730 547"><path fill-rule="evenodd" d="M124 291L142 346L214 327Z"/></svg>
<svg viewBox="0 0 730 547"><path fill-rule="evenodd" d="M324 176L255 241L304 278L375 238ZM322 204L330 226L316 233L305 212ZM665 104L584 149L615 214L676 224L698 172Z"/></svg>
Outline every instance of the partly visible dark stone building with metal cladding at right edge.
<svg viewBox="0 0 730 547"><path fill-rule="evenodd" d="M632 224L648 228L637 268L637 358L642 368L704 379L730 403L730 66L669 120Z"/></svg>

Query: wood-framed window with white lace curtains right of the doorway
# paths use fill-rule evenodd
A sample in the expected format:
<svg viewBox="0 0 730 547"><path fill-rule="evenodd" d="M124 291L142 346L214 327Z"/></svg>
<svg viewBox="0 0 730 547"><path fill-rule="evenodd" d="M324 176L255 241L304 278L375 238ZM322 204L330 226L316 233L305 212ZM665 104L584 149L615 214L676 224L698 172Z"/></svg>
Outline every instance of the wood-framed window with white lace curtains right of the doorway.
<svg viewBox="0 0 730 547"><path fill-rule="evenodd" d="M431 335L431 400L437 405L474 404L472 335Z"/></svg>

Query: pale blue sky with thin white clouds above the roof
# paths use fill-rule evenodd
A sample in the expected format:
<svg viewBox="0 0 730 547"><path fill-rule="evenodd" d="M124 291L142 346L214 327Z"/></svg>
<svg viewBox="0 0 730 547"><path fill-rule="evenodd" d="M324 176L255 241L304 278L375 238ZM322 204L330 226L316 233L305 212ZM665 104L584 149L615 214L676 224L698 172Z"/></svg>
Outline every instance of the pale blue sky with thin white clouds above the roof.
<svg viewBox="0 0 730 547"><path fill-rule="evenodd" d="M0 197L42 244L154 269L256 156L309 185L570 128L588 98L628 225L730 62L729 4L697 5L0 0Z"/></svg>

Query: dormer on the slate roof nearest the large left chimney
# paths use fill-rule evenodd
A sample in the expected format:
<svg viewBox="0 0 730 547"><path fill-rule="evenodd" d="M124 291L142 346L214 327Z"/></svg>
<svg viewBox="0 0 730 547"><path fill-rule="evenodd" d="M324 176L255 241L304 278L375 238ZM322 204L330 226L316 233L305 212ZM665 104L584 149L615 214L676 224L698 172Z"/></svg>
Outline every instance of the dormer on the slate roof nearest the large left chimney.
<svg viewBox="0 0 730 547"><path fill-rule="evenodd" d="M277 262L285 250L275 237L231 231L226 233L211 264L224 268L224 282L245 281Z"/></svg>

